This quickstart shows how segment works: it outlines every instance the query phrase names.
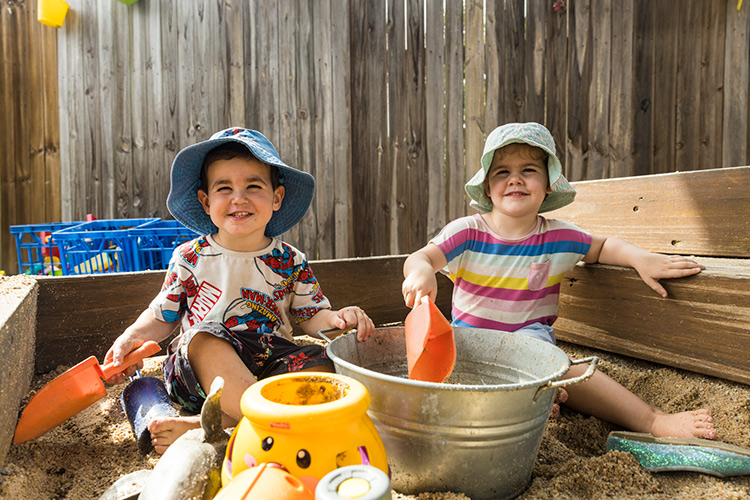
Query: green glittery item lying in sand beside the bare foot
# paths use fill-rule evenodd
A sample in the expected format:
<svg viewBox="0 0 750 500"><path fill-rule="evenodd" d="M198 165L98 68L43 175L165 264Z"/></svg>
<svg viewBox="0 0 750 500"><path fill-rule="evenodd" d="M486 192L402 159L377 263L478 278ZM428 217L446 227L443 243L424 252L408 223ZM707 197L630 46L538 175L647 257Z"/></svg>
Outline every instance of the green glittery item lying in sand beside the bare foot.
<svg viewBox="0 0 750 500"><path fill-rule="evenodd" d="M728 477L750 474L750 449L697 438L657 438L641 432L611 432L607 451L631 453L651 472L694 471Z"/></svg>

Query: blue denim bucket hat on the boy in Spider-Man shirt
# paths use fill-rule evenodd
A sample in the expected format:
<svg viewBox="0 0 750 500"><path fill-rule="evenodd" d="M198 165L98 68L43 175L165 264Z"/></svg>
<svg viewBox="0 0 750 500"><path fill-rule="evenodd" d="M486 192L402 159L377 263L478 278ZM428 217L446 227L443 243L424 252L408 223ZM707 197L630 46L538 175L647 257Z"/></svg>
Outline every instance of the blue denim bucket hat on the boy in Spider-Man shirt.
<svg viewBox="0 0 750 500"><path fill-rule="evenodd" d="M284 200L273 213L265 234L271 238L284 234L294 227L315 195L315 178L307 172L292 168L279 158L271 141L255 130L228 128L212 135L208 140L188 146L175 156L167 208L175 219L198 234L214 234L219 229L198 200L201 185L201 168L209 151L229 142L247 147L258 160L273 165L279 171L279 183L284 186Z"/></svg>

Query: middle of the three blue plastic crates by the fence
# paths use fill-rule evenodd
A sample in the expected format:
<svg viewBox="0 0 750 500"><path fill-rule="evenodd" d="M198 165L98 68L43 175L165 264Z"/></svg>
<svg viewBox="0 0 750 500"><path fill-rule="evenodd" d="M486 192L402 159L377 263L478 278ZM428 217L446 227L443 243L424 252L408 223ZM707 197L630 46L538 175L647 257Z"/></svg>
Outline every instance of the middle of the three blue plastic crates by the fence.
<svg viewBox="0 0 750 500"><path fill-rule="evenodd" d="M128 231L158 220L103 219L55 232L63 274L138 271L135 243Z"/></svg>

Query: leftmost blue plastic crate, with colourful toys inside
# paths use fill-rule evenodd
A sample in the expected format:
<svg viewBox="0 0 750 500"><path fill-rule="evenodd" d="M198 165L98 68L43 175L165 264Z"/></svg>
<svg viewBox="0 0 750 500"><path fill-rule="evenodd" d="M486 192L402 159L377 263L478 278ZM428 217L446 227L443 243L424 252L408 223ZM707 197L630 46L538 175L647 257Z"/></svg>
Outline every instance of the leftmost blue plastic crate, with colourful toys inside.
<svg viewBox="0 0 750 500"><path fill-rule="evenodd" d="M16 240L18 274L63 274L60 248L52 233L79 224L83 221L10 226L10 234Z"/></svg>

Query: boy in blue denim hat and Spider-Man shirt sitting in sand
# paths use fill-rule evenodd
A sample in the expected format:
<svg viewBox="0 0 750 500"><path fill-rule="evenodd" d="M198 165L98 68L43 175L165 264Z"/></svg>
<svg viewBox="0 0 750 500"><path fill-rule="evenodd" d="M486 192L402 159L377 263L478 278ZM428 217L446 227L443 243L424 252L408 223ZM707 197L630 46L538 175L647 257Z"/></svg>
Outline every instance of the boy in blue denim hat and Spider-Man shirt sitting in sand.
<svg viewBox="0 0 750 500"><path fill-rule="evenodd" d="M282 162L253 130L217 132L175 157L167 207L202 236L175 250L161 292L105 357L119 364L145 341L182 327L162 370L171 398L194 415L149 424L158 453L200 426L217 376L225 382L222 423L231 427L242 418L240 397L258 379L334 371L320 346L292 342L292 320L307 335L328 328L357 328L359 340L372 335L372 320L360 308L331 310L305 255L277 239L304 216L314 192L313 177Z"/></svg>

